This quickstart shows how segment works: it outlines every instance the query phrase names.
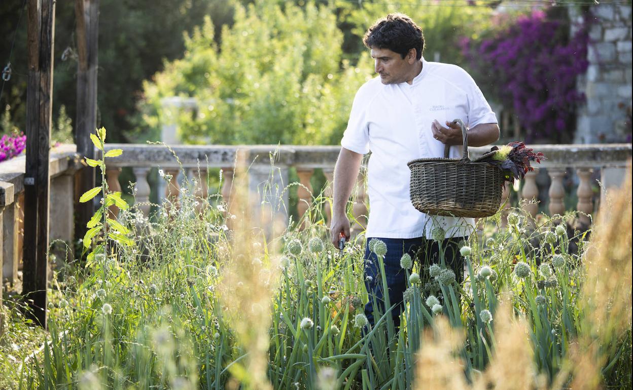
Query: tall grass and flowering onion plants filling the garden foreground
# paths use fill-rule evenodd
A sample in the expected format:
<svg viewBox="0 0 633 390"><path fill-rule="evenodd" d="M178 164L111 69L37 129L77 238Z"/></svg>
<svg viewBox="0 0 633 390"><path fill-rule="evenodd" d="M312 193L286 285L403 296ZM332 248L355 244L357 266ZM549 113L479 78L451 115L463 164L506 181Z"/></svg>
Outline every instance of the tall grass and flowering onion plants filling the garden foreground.
<svg viewBox="0 0 633 390"><path fill-rule="evenodd" d="M237 192L241 178L238 171ZM245 193L225 204L196 198L191 185L179 207L160 206L152 219L123 210L118 222L136 244L110 240L103 257L56 283L46 347L23 365L16 387L631 384L629 195L614 197L611 219L600 219L590 241L562 228L572 214L537 222L515 209L507 229L483 221L482 234L465 243L464 283L412 278L398 329L392 303L365 290L363 242L342 256L326 247L318 207L301 231L270 229L277 221L254 220ZM201 212L196 202L204 202ZM420 267L429 262L406 276L427 275ZM367 302L374 326L363 315Z"/></svg>

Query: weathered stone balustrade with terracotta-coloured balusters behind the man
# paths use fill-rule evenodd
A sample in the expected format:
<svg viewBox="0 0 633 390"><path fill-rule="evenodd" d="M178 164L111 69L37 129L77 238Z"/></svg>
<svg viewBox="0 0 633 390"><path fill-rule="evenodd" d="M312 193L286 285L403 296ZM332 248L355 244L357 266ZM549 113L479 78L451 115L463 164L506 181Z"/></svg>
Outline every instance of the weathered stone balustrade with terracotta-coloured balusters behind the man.
<svg viewBox="0 0 633 390"><path fill-rule="evenodd" d="M197 178L194 195L201 200L209 197L207 181L209 169L222 169L222 188L220 194L226 202L230 202L236 156L244 156L244 164L248 166L249 190L258 194L260 200L273 205L284 220L287 221L288 191L285 190L289 178L289 169L296 169L301 183L298 186L298 209L296 214L303 216L313 204L313 189L310 182L316 169L322 169L328 185L324 190L326 197L331 197L334 164L339 154L338 146L178 146L172 150L163 145L110 144L106 149L123 149L123 155L108 159L106 178L111 190L121 190L118 176L123 167L132 168L135 181L135 201L144 214L149 213L151 192L160 192L160 198L168 200L169 207L179 207L179 196L182 181L179 177L187 174ZM566 209L580 210L592 214L603 200L594 196L596 180L601 183L601 193L617 186L624 178L625 168L631 158L630 144L600 145L537 145L534 149L548 157L541 164L536 164L536 171L527 173L523 180L518 198L532 200L536 198L548 205L549 214L563 214ZM471 157L483 154L487 147L470 148ZM178 156L176 158L175 156ZM51 151L51 207L49 236L52 240L63 240L70 243L73 239L73 207L78 194L75 193L74 174L80 166L80 156L75 153L75 145L61 145ZM181 169L182 167L182 169ZM22 259L22 219L23 211L28 205L23 204L25 157L17 157L0 163L0 224L3 237L0 240L0 253L3 258L3 281L15 283L18 266ZM152 188L149 185L148 173L152 168L163 169L168 181L163 181L163 188ZM273 169L272 169L273 168ZM539 171L546 171L548 188L541 186L539 191ZM599 175L598 175L599 171ZM573 180L570 180L570 177ZM573 186L570 185L573 183ZM316 193L320 189L315 189ZM511 186L506 186L504 196L511 193ZM570 193L573 196L570 197ZM539 195L540 194L540 195ZM80 194L79 194L80 195ZM539 198L539 196L541 198ZM355 217L353 231L358 233L364 229L367 216L367 200L364 175L358 178L358 185L353 193L352 210ZM565 206L565 198L577 198L574 205ZM594 202L597 200L597 202ZM203 207L200 202L198 207ZM323 210L328 222L331 217L330 204ZM529 203L526 206L532 215L536 215L539 205ZM118 214L112 207L110 212ZM72 247L72 245L70 245Z"/></svg>

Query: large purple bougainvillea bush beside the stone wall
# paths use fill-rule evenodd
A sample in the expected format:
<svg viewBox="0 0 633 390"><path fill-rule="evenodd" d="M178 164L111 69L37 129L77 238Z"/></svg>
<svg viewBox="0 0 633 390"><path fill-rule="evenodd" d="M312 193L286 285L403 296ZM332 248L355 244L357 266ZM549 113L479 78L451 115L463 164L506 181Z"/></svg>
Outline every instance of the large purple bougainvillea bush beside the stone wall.
<svg viewBox="0 0 633 390"><path fill-rule="evenodd" d="M534 11L492 37L463 39L461 48L496 98L511 104L527 142L560 142L573 131L575 106L584 100L576 77L587 70L587 42L585 27L569 37L567 23Z"/></svg>

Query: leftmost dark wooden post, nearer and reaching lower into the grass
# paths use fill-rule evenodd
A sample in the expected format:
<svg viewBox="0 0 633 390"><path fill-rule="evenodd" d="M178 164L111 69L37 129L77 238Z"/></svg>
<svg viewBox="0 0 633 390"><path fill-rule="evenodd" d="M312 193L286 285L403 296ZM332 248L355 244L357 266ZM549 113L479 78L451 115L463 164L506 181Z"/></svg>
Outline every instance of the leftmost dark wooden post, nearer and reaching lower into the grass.
<svg viewBox="0 0 633 390"><path fill-rule="evenodd" d="M23 294L46 327L49 154L53 104L54 0L28 1L27 161L24 175Z"/></svg>

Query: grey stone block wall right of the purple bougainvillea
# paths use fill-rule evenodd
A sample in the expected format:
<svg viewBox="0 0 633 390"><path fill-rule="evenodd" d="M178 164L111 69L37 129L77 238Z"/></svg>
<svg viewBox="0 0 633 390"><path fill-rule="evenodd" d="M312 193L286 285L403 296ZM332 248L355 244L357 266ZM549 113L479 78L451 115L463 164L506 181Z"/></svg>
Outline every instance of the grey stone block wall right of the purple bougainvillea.
<svg viewBox="0 0 633 390"><path fill-rule="evenodd" d="M577 112L574 142L630 142L631 6L599 4L570 13L572 33L583 18L589 22L589 67L578 80L587 101Z"/></svg>

